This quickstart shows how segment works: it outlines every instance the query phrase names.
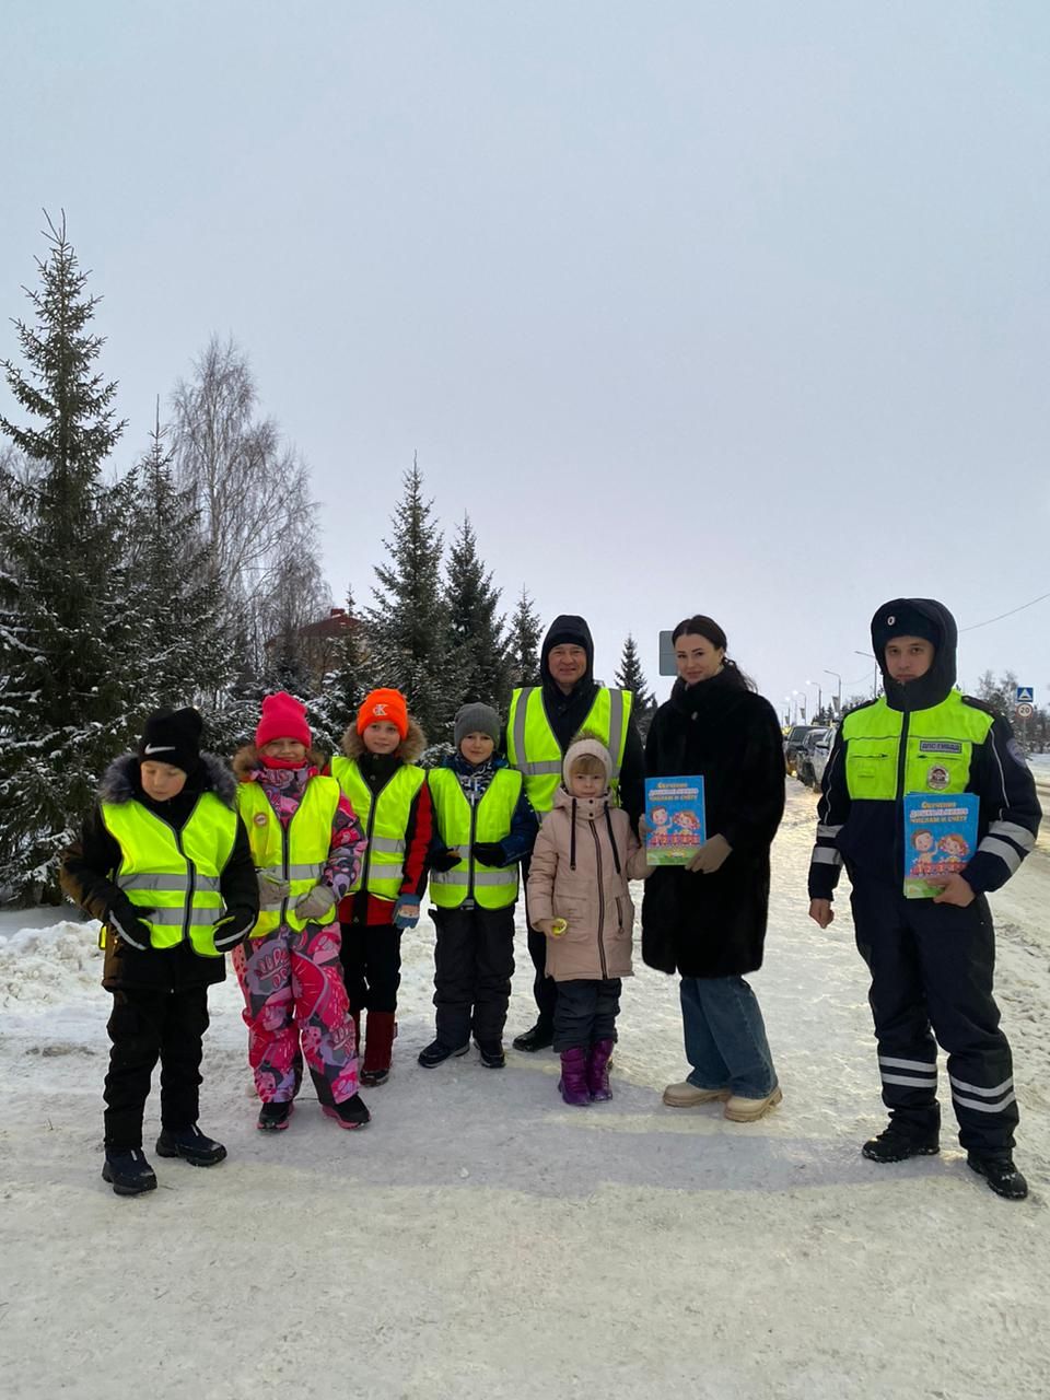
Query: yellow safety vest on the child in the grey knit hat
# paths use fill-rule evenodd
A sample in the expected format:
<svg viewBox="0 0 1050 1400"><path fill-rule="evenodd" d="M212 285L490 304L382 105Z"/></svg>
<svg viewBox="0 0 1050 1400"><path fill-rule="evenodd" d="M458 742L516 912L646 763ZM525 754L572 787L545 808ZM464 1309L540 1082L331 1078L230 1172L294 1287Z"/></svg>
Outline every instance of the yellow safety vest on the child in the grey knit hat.
<svg viewBox="0 0 1050 1400"><path fill-rule="evenodd" d="M468 860L451 871L431 871L430 897L438 909L458 909L472 895L482 909L505 909L518 897L517 864L482 865L473 860L473 847L510 834L522 783L517 769L497 769L482 801L470 806L452 769L431 769L427 774L438 836L445 846L468 851Z"/></svg>

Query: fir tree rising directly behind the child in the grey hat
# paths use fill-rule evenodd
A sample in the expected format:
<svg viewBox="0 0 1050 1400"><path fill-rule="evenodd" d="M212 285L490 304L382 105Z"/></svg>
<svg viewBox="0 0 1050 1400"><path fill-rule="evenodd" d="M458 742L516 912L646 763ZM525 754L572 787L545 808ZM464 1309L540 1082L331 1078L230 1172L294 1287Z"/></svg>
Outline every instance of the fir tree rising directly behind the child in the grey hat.
<svg viewBox="0 0 1050 1400"><path fill-rule="evenodd" d="M470 517L463 515L448 554L448 644L461 672L458 703L482 700L507 714L511 699L511 657L504 617L497 613L500 589L477 554Z"/></svg>

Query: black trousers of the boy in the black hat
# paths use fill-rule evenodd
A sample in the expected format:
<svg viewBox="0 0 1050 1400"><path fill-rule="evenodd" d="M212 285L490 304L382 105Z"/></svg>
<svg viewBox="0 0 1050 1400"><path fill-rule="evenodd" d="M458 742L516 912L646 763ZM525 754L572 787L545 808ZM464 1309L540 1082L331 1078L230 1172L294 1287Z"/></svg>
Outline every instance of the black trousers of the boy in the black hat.
<svg viewBox="0 0 1050 1400"><path fill-rule="evenodd" d="M196 1123L207 987L115 991L106 1030L112 1040L104 1092L106 1147L123 1152L143 1145L143 1112L158 1058L161 1123L165 1128Z"/></svg>

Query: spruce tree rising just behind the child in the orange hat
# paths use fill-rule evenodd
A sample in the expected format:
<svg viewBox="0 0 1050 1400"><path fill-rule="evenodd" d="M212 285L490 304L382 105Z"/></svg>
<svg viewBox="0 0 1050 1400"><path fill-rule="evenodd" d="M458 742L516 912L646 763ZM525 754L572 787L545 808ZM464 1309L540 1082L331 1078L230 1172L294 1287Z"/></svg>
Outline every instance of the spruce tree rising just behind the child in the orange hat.
<svg viewBox="0 0 1050 1400"><path fill-rule="evenodd" d="M448 603L441 587L442 538L433 500L413 458L384 540L388 563L375 566L375 605L365 615L375 683L400 690L427 739L438 743L456 708L456 658L448 651Z"/></svg>

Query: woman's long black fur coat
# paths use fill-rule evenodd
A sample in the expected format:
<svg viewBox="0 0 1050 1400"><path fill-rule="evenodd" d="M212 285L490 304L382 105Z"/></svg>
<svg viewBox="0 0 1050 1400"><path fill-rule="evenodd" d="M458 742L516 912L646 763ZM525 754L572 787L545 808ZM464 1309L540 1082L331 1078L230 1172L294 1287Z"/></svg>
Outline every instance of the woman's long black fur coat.
<svg viewBox="0 0 1050 1400"><path fill-rule="evenodd" d="M713 875L659 867L645 882L641 953L683 977L728 977L762 966L769 853L784 815L784 741L773 706L727 666L675 683L654 715L645 776L703 774L708 839L731 855Z"/></svg>

